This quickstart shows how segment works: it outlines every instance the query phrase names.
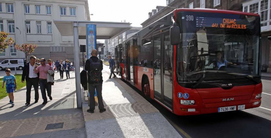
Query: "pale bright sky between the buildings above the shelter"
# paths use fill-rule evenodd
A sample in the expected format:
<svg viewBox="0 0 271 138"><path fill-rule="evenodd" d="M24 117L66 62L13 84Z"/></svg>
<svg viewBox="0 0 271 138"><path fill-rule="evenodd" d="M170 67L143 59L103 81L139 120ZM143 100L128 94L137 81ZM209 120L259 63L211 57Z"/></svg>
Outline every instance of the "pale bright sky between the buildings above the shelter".
<svg viewBox="0 0 271 138"><path fill-rule="evenodd" d="M91 21L126 22L133 27L148 19L156 6L166 6L166 0L88 0Z"/></svg>

